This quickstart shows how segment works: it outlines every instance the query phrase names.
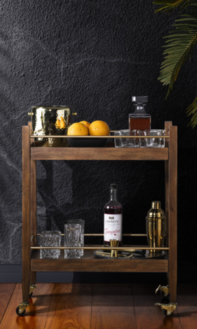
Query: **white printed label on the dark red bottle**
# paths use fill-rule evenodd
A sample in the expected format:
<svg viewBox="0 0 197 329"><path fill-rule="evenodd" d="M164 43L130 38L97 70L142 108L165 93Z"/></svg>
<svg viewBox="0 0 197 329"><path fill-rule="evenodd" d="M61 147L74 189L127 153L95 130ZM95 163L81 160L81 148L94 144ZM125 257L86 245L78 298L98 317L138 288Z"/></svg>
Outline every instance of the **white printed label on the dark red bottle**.
<svg viewBox="0 0 197 329"><path fill-rule="evenodd" d="M104 241L122 241L122 214L104 214Z"/></svg>

